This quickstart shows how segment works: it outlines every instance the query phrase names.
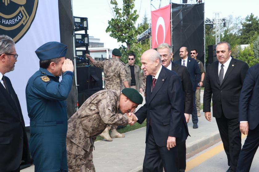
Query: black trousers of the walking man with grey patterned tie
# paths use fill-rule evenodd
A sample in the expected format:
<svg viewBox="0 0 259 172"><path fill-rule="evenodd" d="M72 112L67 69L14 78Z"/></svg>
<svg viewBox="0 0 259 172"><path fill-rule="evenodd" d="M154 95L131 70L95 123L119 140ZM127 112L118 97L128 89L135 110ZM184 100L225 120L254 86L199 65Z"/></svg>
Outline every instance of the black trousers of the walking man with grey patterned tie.
<svg viewBox="0 0 259 172"><path fill-rule="evenodd" d="M228 166L236 171L239 153L241 151L241 132L238 118L228 119L222 113L220 118L216 118L223 142L224 150L228 157Z"/></svg>

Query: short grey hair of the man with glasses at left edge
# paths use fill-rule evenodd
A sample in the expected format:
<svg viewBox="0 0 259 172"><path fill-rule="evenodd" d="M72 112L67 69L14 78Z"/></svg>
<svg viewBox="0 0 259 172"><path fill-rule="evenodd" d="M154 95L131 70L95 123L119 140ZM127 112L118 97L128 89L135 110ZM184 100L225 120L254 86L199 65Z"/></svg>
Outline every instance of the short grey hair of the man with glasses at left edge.
<svg viewBox="0 0 259 172"><path fill-rule="evenodd" d="M7 35L0 35L0 54L14 51L14 40Z"/></svg>

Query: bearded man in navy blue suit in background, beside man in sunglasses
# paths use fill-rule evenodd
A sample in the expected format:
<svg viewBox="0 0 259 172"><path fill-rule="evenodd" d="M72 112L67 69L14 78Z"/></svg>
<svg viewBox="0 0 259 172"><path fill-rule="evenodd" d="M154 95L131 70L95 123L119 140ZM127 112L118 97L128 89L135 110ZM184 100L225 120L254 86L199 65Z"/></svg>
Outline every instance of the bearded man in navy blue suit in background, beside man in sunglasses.
<svg viewBox="0 0 259 172"><path fill-rule="evenodd" d="M193 123L192 128L196 129L198 128L198 116L197 116L197 109L195 104L195 92L196 92L196 89L199 89L200 87L199 86L199 82L201 78L200 69L199 69L198 62L192 59L191 57L188 57L188 50L186 47L181 47L179 50L179 54L181 59L179 59L175 63L178 65L186 66L191 78L192 91L193 91L193 95L192 95L193 108L191 113L191 120Z"/></svg>

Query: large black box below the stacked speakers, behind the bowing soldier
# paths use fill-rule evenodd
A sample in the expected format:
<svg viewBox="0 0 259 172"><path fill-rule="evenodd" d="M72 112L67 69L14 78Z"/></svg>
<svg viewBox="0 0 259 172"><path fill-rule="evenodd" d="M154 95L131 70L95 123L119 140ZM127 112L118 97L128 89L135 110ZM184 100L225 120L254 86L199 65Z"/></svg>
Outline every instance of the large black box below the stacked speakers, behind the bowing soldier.
<svg viewBox="0 0 259 172"><path fill-rule="evenodd" d="M87 89L103 88L102 70L96 66L76 67L78 93Z"/></svg>

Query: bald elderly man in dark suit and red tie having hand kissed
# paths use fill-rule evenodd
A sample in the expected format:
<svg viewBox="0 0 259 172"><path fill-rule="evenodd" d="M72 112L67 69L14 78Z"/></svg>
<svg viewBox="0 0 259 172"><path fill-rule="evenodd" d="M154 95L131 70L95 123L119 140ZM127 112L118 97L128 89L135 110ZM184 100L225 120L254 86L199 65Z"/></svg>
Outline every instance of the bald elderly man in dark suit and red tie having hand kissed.
<svg viewBox="0 0 259 172"><path fill-rule="evenodd" d="M178 143L188 136L183 113L183 90L177 74L162 66L160 54L147 50L141 57L141 69L146 77L146 104L137 112L139 123L145 119L146 151L143 171L178 171Z"/></svg>

